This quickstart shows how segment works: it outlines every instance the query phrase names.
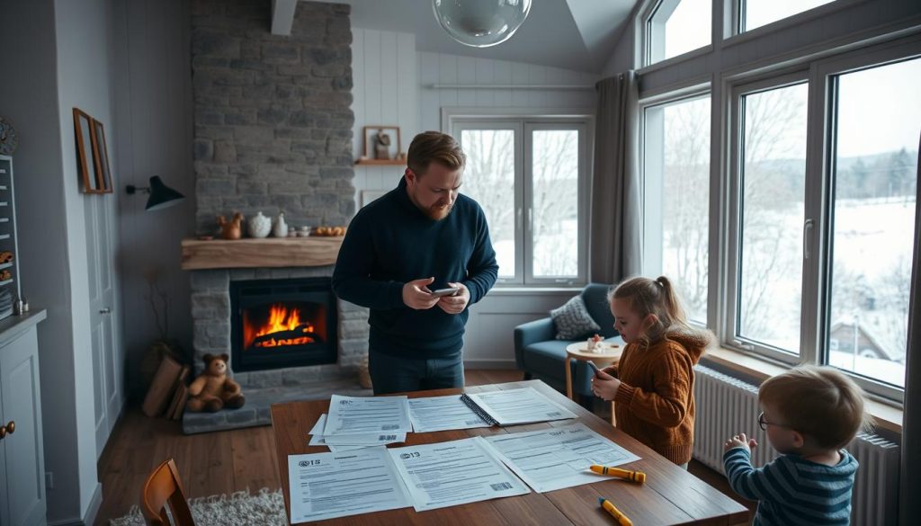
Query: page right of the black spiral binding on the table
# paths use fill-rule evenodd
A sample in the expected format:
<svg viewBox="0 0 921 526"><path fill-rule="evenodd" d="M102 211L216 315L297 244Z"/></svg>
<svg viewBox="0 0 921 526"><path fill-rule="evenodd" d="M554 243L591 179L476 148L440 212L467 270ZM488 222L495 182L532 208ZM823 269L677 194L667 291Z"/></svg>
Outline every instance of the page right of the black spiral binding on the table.
<svg viewBox="0 0 921 526"><path fill-rule="evenodd" d="M461 401L486 422L496 426L576 418L575 413L552 402L532 387L464 393L461 395Z"/></svg>

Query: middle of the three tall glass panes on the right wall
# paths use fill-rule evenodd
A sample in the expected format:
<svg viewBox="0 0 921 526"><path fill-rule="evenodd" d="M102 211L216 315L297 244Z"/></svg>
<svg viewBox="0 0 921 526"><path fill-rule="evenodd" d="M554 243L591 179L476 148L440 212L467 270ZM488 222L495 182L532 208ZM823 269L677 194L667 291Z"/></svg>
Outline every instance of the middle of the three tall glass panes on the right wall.
<svg viewBox="0 0 921 526"><path fill-rule="evenodd" d="M734 339L799 356L806 198L805 82L741 88Z"/></svg>

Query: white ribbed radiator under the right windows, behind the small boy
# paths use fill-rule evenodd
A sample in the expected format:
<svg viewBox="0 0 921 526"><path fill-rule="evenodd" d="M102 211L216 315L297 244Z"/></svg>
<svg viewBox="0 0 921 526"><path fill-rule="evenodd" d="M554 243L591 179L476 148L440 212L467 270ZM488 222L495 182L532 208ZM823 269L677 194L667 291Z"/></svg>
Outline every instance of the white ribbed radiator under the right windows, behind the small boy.
<svg viewBox="0 0 921 526"><path fill-rule="evenodd" d="M694 368L694 459L723 471L723 442L745 433L758 441L752 454L755 467L776 456L758 427L758 389L711 368ZM854 481L851 524L877 526L898 523L899 446L877 435L861 433L847 446L860 462Z"/></svg>

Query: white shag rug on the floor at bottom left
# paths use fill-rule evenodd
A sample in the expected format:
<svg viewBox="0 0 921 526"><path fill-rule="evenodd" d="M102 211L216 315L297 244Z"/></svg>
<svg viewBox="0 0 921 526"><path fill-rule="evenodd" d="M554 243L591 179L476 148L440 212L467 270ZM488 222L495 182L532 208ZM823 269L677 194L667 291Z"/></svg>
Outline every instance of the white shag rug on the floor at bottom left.
<svg viewBox="0 0 921 526"><path fill-rule="evenodd" d="M190 498L195 526L227 526L227 524L252 524L286 526L285 498L280 489L262 488L256 495L238 491L226 495ZM127 515L112 519L110 526L145 526L140 508L133 506Z"/></svg>

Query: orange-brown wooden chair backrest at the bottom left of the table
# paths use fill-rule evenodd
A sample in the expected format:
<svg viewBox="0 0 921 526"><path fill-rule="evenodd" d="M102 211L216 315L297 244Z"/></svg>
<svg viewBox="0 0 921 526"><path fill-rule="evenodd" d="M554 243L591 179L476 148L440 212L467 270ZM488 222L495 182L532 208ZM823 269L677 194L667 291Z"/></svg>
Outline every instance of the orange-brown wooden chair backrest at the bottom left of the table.
<svg viewBox="0 0 921 526"><path fill-rule="evenodd" d="M147 526L168 525L167 506L176 526L194 526L176 462L168 459L147 477L141 493L141 513Z"/></svg>

